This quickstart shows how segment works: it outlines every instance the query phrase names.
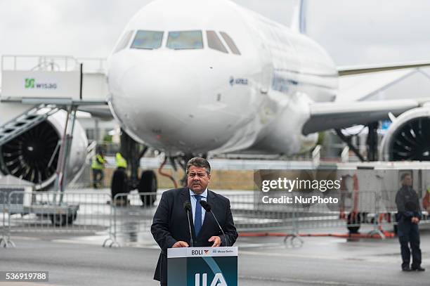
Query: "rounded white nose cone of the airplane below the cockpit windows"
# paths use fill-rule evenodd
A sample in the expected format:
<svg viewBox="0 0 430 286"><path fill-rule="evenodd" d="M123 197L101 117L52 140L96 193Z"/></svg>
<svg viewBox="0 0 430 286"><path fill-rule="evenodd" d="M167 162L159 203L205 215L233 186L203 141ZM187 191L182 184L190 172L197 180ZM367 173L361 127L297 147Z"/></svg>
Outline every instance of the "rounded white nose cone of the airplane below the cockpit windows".
<svg viewBox="0 0 430 286"><path fill-rule="evenodd" d="M193 128L201 99L197 72L174 60L148 60L124 71L120 82L112 105L129 131L155 146L189 144L184 128Z"/></svg>

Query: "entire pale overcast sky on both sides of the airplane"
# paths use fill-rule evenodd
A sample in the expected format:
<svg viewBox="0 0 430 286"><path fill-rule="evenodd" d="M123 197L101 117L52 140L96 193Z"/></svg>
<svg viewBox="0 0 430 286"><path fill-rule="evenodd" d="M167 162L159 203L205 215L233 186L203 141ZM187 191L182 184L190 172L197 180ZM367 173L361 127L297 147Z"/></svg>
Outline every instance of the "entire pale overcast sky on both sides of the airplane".
<svg viewBox="0 0 430 286"><path fill-rule="evenodd" d="M235 1L285 25L297 2ZM148 2L0 0L0 54L106 57ZM429 12L428 0L309 0L308 34L337 65L430 60Z"/></svg>

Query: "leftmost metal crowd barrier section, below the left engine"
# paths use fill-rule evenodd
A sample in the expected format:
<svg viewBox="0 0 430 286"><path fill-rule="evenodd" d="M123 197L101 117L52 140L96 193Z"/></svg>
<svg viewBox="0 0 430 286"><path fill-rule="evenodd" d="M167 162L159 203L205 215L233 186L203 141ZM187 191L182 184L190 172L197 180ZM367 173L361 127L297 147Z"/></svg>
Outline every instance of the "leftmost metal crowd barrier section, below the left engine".
<svg viewBox="0 0 430 286"><path fill-rule="evenodd" d="M110 194L100 192L8 193L6 236L11 233L108 233ZM5 227L6 226L6 227ZM13 243L13 242L12 242Z"/></svg>

